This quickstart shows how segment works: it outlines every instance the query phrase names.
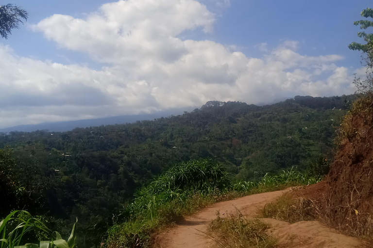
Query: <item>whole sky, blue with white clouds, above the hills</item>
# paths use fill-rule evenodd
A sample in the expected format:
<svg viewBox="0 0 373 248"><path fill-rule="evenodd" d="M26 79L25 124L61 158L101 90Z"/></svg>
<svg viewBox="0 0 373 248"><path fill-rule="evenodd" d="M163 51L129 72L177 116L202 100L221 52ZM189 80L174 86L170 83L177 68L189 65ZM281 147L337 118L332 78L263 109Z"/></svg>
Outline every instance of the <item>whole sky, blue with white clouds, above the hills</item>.
<svg viewBox="0 0 373 248"><path fill-rule="evenodd" d="M0 128L355 92L368 0L8 0ZM4 3L5 4L5 3ZM361 42L361 41L360 41Z"/></svg>

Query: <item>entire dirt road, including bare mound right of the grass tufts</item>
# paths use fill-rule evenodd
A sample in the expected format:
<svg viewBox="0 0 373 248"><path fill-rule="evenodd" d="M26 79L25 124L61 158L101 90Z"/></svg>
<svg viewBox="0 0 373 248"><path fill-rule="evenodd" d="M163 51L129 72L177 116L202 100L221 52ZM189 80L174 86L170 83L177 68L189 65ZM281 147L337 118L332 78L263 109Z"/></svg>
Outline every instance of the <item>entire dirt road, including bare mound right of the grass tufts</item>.
<svg viewBox="0 0 373 248"><path fill-rule="evenodd" d="M209 223L220 214L235 212L235 207L247 217L254 217L258 209L266 203L274 201L286 190L274 191L237 198L232 201L219 202L203 209L200 213L187 217L168 232L160 233L157 247L160 248L209 248L216 247L215 243L202 232L207 231ZM358 239L345 236L317 222L298 222L289 225L283 221L269 220L272 225L271 235L279 239L281 247L305 248L365 248ZM311 224L310 224L311 223ZM319 232L317 230L322 230ZM291 232L288 232L290 230ZM202 231L202 232L201 232ZM288 232L288 233L287 233ZM299 233L300 235L297 235ZM285 245L285 246L284 246Z"/></svg>

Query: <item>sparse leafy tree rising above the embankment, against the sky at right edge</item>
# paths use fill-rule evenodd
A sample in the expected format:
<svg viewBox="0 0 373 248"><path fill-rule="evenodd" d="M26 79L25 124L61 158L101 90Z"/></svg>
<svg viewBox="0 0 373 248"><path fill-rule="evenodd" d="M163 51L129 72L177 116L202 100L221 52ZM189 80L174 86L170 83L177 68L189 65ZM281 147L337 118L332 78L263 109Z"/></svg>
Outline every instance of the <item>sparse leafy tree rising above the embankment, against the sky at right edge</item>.
<svg viewBox="0 0 373 248"><path fill-rule="evenodd" d="M361 11L361 16L365 18L373 18L373 9L366 8ZM373 21L370 20L359 20L354 22L354 25L360 25L360 29L366 30L373 27ZM365 44L353 42L348 45L351 50L359 50L363 52L363 65L366 66L366 78L362 80L359 77L355 77L354 84L357 87L357 91L360 93L371 93L373 94L373 33L366 33L361 31L357 33L357 36L363 38Z"/></svg>

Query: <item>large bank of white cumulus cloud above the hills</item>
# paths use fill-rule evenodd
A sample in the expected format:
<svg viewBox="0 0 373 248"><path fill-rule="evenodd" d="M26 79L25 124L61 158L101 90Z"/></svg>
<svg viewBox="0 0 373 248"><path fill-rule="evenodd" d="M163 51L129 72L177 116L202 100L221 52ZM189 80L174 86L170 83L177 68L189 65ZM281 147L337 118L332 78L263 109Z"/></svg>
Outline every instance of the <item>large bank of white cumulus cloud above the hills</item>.
<svg viewBox="0 0 373 248"><path fill-rule="evenodd" d="M196 0L120 0L85 19L45 18L34 31L105 66L38 61L0 46L2 125L354 92L352 73L335 64L341 56L305 56L296 41L274 49L263 43L265 56L251 58L217 42L180 38L213 31L215 19Z"/></svg>

